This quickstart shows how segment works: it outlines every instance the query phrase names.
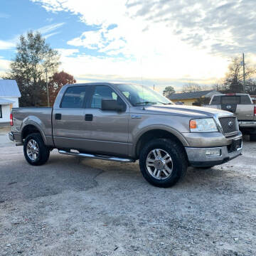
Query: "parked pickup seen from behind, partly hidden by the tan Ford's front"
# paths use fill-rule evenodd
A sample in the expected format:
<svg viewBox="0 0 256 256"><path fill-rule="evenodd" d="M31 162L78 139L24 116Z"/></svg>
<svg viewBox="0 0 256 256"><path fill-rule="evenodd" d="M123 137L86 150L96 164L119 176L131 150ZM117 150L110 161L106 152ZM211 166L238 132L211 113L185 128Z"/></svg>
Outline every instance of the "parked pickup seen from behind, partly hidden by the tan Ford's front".
<svg viewBox="0 0 256 256"><path fill-rule="evenodd" d="M250 95L245 93L230 93L213 95L209 105L219 110L227 110L238 117L240 131L250 134L250 140L256 141L256 106Z"/></svg>

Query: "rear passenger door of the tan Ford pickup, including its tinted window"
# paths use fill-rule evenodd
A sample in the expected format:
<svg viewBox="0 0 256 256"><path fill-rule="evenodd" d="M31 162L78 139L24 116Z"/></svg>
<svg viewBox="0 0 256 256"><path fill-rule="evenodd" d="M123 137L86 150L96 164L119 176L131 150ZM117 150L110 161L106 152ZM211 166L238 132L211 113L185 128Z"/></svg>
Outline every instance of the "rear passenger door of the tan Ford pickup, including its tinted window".
<svg viewBox="0 0 256 256"><path fill-rule="evenodd" d="M85 121L85 104L90 86L71 86L58 107L53 109L53 140L55 147L87 150L91 122Z"/></svg>

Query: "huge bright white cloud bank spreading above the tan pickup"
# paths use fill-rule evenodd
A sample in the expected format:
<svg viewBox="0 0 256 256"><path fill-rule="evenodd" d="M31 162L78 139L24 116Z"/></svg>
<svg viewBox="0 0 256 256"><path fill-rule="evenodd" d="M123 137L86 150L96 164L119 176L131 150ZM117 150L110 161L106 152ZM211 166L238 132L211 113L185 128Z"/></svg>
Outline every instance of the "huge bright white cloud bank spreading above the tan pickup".
<svg viewBox="0 0 256 256"><path fill-rule="evenodd" d="M205 82L225 75L230 55L256 50L254 0L31 1L47 11L77 15L95 28L68 41L87 49L87 55L62 60L77 79L104 75Z"/></svg>

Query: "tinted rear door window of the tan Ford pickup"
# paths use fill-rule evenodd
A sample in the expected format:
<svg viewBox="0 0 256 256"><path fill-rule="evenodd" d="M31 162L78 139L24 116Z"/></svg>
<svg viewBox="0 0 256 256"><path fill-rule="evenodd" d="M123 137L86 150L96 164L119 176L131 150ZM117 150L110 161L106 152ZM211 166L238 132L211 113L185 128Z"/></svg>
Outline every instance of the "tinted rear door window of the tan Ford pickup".
<svg viewBox="0 0 256 256"><path fill-rule="evenodd" d="M68 87L61 102L62 108L82 108L87 91L86 86Z"/></svg>

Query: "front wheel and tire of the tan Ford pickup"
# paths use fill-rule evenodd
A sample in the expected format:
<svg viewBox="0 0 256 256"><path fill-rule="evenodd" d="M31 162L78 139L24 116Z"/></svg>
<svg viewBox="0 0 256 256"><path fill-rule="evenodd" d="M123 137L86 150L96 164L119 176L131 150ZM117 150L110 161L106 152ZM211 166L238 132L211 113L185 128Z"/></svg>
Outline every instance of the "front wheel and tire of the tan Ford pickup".
<svg viewBox="0 0 256 256"><path fill-rule="evenodd" d="M154 139L143 147L139 166L146 181L154 186L168 188L186 174L188 161L183 146L174 140Z"/></svg>

